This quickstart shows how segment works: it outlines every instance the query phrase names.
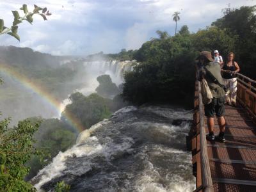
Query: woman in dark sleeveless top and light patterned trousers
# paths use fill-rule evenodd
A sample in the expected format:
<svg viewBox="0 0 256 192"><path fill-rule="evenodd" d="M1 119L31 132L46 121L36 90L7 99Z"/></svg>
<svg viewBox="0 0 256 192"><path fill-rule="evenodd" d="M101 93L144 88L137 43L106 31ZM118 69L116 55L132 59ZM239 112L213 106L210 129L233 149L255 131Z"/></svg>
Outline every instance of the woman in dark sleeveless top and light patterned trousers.
<svg viewBox="0 0 256 192"><path fill-rule="evenodd" d="M239 72L240 68L236 61L234 61L234 52L228 53L227 62L224 63L221 71L223 81L227 88L225 96L226 103L228 105L236 106L236 92L237 92L237 79L236 73Z"/></svg>

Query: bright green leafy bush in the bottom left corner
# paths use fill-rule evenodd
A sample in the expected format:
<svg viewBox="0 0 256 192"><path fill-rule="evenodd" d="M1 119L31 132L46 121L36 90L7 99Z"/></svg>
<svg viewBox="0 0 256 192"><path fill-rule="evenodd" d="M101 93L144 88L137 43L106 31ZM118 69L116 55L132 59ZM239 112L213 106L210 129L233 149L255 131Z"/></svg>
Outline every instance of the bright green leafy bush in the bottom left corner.
<svg viewBox="0 0 256 192"><path fill-rule="evenodd" d="M33 155L41 154L34 147L33 134L38 130L39 122L31 124L29 120L19 122L9 128L10 120L0 122L0 190L1 191L35 191L24 181L29 172L25 164Z"/></svg>

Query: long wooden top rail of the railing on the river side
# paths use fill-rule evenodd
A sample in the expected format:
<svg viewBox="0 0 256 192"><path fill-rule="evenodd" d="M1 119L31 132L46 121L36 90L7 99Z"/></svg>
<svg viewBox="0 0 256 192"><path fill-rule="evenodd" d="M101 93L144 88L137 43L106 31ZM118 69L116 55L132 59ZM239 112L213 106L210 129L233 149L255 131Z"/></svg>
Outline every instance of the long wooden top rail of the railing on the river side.
<svg viewBox="0 0 256 192"><path fill-rule="evenodd" d="M199 99L199 113L200 113L200 160L202 172L202 185L205 192L212 192L212 177L209 164L209 157L207 151L207 142L205 137L205 122L204 122L204 104L202 102L201 86L198 84L198 99Z"/></svg>

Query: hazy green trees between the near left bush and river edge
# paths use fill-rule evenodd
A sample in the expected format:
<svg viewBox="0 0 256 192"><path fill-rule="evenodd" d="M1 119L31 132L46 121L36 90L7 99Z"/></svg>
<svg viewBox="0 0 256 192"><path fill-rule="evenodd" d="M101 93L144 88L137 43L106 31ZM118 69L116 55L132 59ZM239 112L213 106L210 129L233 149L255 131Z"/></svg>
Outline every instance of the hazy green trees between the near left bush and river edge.
<svg viewBox="0 0 256 192"><path fill-rule="evenodd" d="M64 152L76 142L77 131L65 122L61 122L56 118L42 119L29 118L30 122L40 120L38 131L35 132L33 138L36 140L35 147L44 149L43 156L32 156L28 165L31 167L26 179L29 180L38 173L45 165L51 163L60 151Z"/></svg>

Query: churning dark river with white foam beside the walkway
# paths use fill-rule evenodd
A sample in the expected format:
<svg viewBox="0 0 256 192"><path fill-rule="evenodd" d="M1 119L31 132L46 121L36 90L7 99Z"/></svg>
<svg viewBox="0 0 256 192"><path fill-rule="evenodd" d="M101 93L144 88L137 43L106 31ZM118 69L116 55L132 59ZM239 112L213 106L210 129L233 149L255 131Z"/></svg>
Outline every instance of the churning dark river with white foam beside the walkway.
<svg viewBox="0 0 256 192"><path fill-rule="evenodd" d="M193 191L186 135L191 111L123 108L81 132L33 181L51 191L65 180L70 191Z"/></svg>

